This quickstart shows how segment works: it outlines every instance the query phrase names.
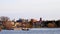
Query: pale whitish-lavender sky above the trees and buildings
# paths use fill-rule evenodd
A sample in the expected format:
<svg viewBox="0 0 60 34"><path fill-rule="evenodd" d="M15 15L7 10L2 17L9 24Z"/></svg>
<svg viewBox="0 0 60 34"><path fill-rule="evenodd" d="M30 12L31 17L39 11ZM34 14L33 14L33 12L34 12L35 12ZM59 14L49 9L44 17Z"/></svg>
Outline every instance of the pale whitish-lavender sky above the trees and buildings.
<svg viewBox="0 0 60 34"><path fill-rule="evenodd" d="M60 0L0 0L0 16L10 19L60 19Z"/></svg>

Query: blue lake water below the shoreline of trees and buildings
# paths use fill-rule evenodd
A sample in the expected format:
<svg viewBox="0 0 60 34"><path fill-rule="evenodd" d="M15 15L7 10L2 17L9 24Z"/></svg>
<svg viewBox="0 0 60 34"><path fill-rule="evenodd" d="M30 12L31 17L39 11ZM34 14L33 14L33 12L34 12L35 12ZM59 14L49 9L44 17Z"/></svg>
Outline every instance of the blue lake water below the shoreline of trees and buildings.
<svg viewBox="0 0 60 34"><path fill-rule="evenodd" d="M60 28L32 28L23 30L2 30L0 34L60 34Z"/></svg>

